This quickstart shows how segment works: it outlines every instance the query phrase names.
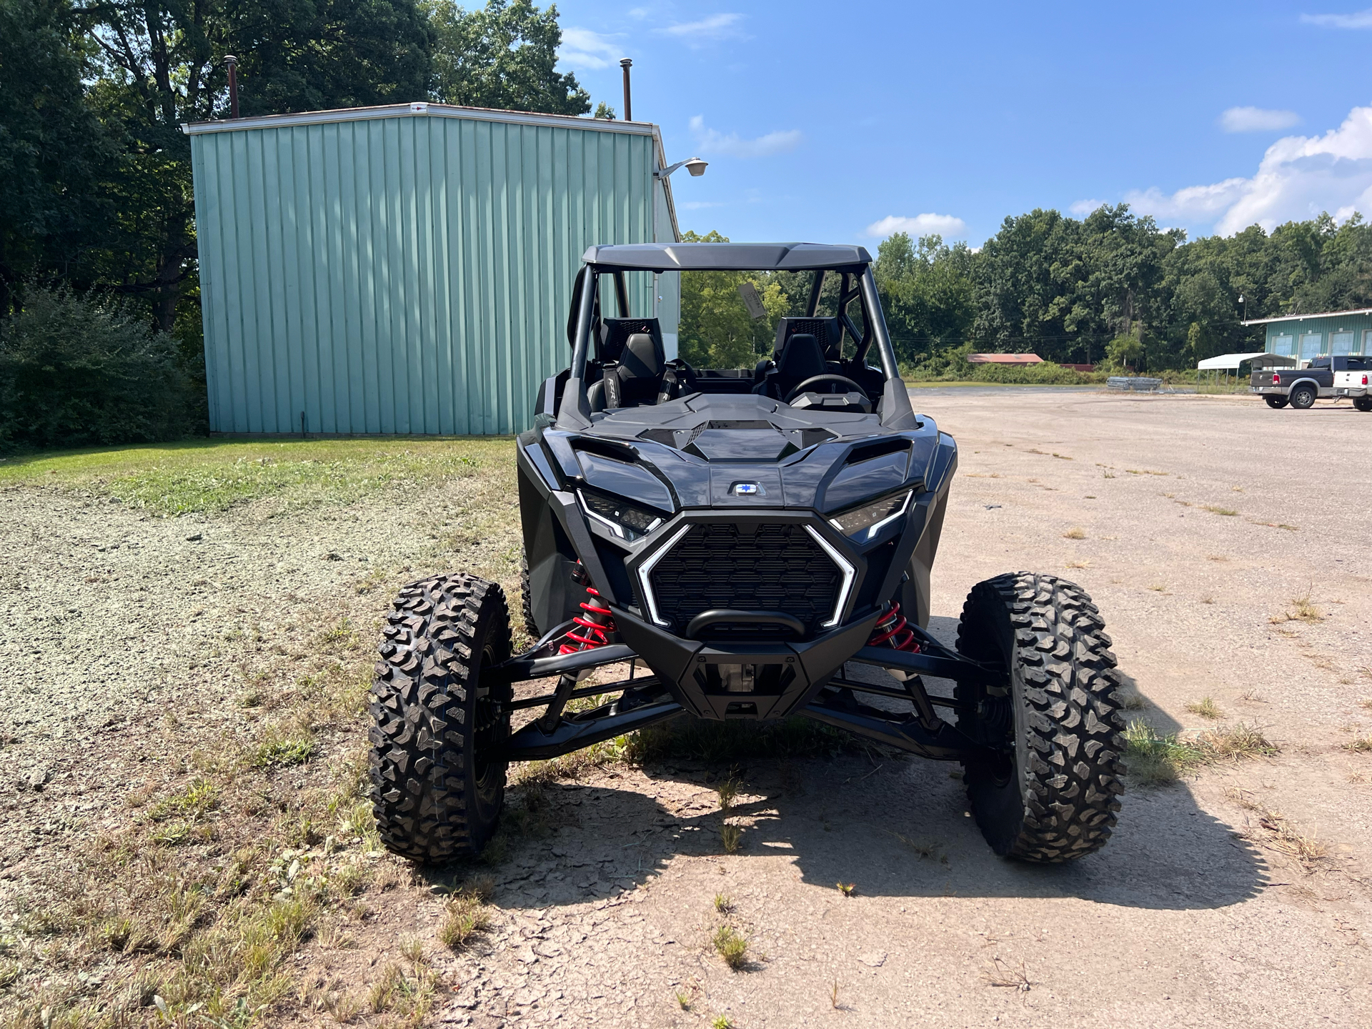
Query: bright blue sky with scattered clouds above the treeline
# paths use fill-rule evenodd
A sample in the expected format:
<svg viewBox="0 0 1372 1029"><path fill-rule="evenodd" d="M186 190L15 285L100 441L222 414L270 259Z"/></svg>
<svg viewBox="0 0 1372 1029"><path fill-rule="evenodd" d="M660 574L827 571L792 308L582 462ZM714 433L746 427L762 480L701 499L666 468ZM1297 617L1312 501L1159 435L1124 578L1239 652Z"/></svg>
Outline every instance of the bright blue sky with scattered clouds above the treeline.
<svg viewBox="0 0 1372 1029"><path fill-rule="evenodd" d="M1369 3L1369 0L1361 0ZM663 126L683 229L973 246L1131 202L1194 239L1372 215L1372 8L563 0L563 70Z"/></svg>

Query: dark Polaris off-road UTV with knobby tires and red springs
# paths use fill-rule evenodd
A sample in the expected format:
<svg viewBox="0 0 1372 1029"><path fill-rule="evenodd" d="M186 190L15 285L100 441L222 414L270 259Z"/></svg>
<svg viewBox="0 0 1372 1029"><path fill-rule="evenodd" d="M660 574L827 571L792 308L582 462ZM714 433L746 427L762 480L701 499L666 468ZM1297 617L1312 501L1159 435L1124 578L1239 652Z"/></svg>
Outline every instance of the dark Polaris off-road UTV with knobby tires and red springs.
<svg viewBox="0 0 1372 1029"><path fill-rule="evenodd" d="M583 261L571 366L539 387L516 450L538 642L512 656L495 583L440 575L401 593L370 700L386 845L420 862L479 851L510 761L678 716L804 715L960 761L999 855L1099 849L1122 792L1110 638L1080 586L1034 572L974 586L956 649L926 631L958 449L910 406L867 251L635 244ZM804 316L781 320L756 369L668 361L657 320L630 310L631 273L705 270L811 276ZM628 678L580 685L605 665ZM513 689L547 679L541 696ZM591 696L616 698L568 709Z"/></svg>

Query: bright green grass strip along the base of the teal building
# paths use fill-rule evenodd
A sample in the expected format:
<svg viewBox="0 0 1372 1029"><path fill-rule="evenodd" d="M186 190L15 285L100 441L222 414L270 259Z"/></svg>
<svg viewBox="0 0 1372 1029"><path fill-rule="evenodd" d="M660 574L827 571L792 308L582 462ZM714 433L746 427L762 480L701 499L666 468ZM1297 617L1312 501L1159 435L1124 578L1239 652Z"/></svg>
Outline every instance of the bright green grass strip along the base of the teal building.
<svg viewBox="0 0 1372 1029"><path fill-rule="evenodd" d="M390 487L465 477L509 460L509 442L434 439L195 439L0 458L0 487L89 490L166 517L269 501L276 513L353 504Z"/></svg>

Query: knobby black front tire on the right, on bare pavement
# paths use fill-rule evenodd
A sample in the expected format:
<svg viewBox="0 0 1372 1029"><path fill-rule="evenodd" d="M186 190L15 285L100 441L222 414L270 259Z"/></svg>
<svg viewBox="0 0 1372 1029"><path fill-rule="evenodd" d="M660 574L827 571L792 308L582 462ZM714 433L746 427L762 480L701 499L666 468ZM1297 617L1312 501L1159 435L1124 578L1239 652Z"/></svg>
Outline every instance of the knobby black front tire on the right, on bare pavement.
<svg viewBox="0 0 1372 1029"><path fill-rule="evenodd" d="M1047 863L1099 851L1124 793L1124 741L1110 637L1085 590L1033 572L980 582L962 609L958 650L1010 670L1008 690L956 689L975 712L969 724L959 715L959 729L1010 745L1003 757L963 763L991 849Z"/></svg>

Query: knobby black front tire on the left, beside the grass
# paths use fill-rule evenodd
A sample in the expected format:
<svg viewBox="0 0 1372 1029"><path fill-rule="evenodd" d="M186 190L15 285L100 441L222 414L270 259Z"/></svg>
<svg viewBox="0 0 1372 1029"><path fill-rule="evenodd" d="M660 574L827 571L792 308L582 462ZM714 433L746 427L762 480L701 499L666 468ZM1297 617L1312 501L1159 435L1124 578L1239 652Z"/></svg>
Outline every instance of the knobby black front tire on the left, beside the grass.
<svg viewBox="0 0 1372 1029"><path fill-rule="evenodd" d="M372 807L390 851L417 862L477 853L505 803L509 687L480 685L510 656L499 586L439 575L397 597L372 683Z"/></svg>

